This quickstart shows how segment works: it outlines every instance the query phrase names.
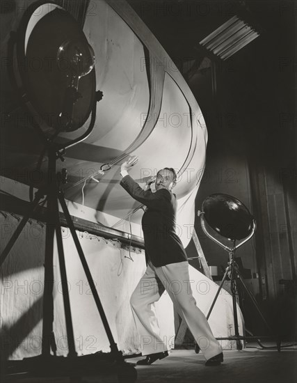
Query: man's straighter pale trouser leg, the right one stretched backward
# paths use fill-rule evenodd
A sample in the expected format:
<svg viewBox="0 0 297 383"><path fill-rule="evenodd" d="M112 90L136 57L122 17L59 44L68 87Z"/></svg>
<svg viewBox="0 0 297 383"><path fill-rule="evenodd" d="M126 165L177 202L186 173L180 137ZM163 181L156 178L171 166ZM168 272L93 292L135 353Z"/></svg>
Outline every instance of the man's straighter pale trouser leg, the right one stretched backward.
<svg viewBox="0 0 297 383"><path fill-rule="evenodd" d="M214 338L207 318L197 307L193 297L190 278L188 275L188 262L172 263L156 267L156 274L166 287L177 311L181 311L186 324L198 343L205 359L210 359L222 352L220 344Z"/></svg>

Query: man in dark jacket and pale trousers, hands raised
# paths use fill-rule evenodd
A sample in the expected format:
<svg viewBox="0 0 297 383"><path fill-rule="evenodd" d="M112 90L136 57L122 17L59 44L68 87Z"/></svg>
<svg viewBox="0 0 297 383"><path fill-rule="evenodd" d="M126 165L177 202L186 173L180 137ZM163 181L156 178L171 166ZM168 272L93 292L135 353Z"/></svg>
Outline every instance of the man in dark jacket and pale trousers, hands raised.
<svg viewBox="0 0 297 383"><path fill-rule="evenodd" d="M137 162L137 157L130 157L122 164L120 185L136 201L147 206L142 219L147 269L130 300L145 356L138 364L149 365L168 356L167 343L161 338L154 312L154 302L167 290L207 359L205 365L218 366L223 361L223 352L207 319L196 306L188 276L186 251L175 233L177 198L172 189L177 183L177 175L172 168L161 169L156 175L156 192L150 189L154 178L147 182L143 190L128 173Z"/></svg>

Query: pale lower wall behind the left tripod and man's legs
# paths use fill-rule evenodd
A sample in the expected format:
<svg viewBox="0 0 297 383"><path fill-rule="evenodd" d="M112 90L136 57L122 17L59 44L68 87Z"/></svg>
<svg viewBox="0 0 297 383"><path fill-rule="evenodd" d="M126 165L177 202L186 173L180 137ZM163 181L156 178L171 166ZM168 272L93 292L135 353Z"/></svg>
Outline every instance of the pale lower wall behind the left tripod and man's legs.
<svg viewBox="0 0 297 383"><path fill-rule="evenodd" d="M20 219L21 217L17 214L1 212L0 224L3 228L1 251ZM45 230L45 224L31 219L1 268L2 352L8 354L9 359L35 357L41 352ZM77 234L83 252L86 254L115 343L125 355L140 353L141 340L138 338L134 325L129 298L145 272L144 250L131 247L129 251L129 247L119 241L106 240L104 237L78 230ZM109 352L109 341L102 320L93 304L93 295L86 276L83 275L69 228L62 228L62 237L77 352L79 355L99 351ZM191 266L189 273L189 285L193 296L207 315L218 285ZM56 244L54 246L54 312L57 354L66 356L67 338ZM168 294L165 293L156 303L156 312L161 334L168 342L168 347L172 348L175 345L175 325L172 301ZM220 317L219 322L218 317ZM216 337L228 336L234 331L232 297L225 290L220 293L214 315L211 315L209 320ZM243 331L243 322L240 323L239 330ZM177 343L178 341L179 339ZM225 350L234 348L233 343L234 341L220 341Z"/></svg>

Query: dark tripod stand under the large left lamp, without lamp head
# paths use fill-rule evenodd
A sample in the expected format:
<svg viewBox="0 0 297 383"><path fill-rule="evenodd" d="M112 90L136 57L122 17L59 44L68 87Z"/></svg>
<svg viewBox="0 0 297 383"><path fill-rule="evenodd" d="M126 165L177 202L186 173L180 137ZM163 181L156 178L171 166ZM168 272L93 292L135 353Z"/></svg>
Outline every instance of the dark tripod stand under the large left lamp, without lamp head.
<svg viewBox="0 0 297 383"><path fill-rule="evenodd" d="M102 303L99 299L98 292L95 287L95 283L93 281L93 277L90 273L90 269L88 267L88 263L86 261L86 257L83 253L83 249L81 248L81 244L79 242L79 238L74 228L74 224L72 218L70 216L70 212L67 209L67 205L65 203L65 198L63 194L63 189L61 187L62 183L65 183L65 178L67 176L66 171L56 173L56 159L61 157L61 153L56 150L56 146L54 143L49 144L48 148L49 155L49 166L48 166L48 183L44 189L39 189L35 194L34 200L31 202L31 206L29 211L23 217L22 221L20 221L19 226L13 233L10 238L8 244L6 245L3 253L0 256L0 267L3 264L4 260L8 256L8 253L13 248L17 237L22 232L22 229L26 225L29 217L31 217L33 210L37 207L40 199L46 194L47 195L47 227L46 227L46 242L45 242L45 290L44 290L44 302L43 302L43 324L42 324L42 354L35 358L38 358L38 364L43 366L47 372L51 368L55 368L57 366L56 360L58 361L58 366L61 367L61 358L56 357L56 343L54 338L53 331L53 322L54 322L54 299L53 299L53 287L54 287L54 269L53 269L53 256L54 256L54 234L56 233L56 243L58 249L58 260L61 270L61 284L63 290L63 303L65 309L65 322L66 322L66 331L67 331L67 343L68 343L68 355L67 358L67 366L66 370L69 371L73 368L73 365L76 363L77 359L81 359L81 357L77 357L77 352L75 350L74 344L74 331L72 325L72 314L70 308L70 296L68 292L67 286L67 272L65 265L65 255L63 250L63 241L61 234L61 223L60 223L60 212L58 208L58 202L61 204L61 208L63 213L65 214L65 219L67 221L67 225L70 228L70 232L72 238L74 240L74 244L77 248L77 252L79 254L79 258L81 260L81 264L83 266L83 270L86 274L86 278L88 279L88 283L90 286L90 290L93 294L95 304L97 306L97 310L99 312L100 317L102 318L102 323L104 325L104 329L106 331L106 335L109 338L109 343L111 347L111 359L115 361L117 364L120 364L123 368L129 368L129 366L124 366L125 361L122 356L122 352L118 350L118 346L113 339L113 335L111 333L111 329L109 327L109 323L107 321L106 315L104 313L104 308L102 307ZM54 352L54 356L51 355L51 350ZM71 363L69 362L71 361ZM36 362L36 361L35 361ZM92 361L94 364L94 360ZM36 364L36 363L34 363ZM42 372L41 368L38 368L38 372ZM45 373L45 371L43 371ZM135 376L134 371L129 371L129 374ZM131 382L134 381L134 377L131 377Z"/></svg>

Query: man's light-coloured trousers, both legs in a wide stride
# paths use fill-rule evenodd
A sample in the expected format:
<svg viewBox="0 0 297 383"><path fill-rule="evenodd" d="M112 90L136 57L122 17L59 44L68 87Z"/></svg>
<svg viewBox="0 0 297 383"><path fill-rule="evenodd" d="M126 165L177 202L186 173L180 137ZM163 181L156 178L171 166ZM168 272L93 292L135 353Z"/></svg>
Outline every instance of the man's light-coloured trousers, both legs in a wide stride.
<svg viewBox="0 0 297 383"><path fill-rule="evenodd" d="M165 289L177 313L186 320L205 359L210 359L222 352L220 344L211 332L207 318L196 306L190 286L188 262L184 261L161 267L154 267L152 263L149 263L131 296L130 303L141 338L142 354L154 354L167 350L167 342L166 339L161 338L154 309L154 302L160 299Z"/></svg>

